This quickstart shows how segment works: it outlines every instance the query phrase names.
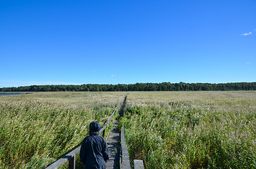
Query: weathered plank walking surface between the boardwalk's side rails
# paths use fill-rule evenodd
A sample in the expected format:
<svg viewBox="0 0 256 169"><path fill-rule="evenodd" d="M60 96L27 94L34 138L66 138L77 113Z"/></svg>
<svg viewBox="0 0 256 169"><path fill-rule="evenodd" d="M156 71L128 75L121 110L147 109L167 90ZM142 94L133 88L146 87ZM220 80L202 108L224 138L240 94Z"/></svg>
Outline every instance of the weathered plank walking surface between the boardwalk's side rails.
<svg viewBox="0 0 256 169"><path fill-rule="evenodd" d="M126 98L124 99L124 102L121 106L120 109L120 116L122 117L124 115L124 107L126 103ZM118 127L118 121L115 120L114 123L114 128L110 132L110 136L107 137L107 145L108 145L108 151L110 155L110 159L107 161L107 169L110 168L115 168L119 169L120 168L120 131L117 129Z"/></svg>

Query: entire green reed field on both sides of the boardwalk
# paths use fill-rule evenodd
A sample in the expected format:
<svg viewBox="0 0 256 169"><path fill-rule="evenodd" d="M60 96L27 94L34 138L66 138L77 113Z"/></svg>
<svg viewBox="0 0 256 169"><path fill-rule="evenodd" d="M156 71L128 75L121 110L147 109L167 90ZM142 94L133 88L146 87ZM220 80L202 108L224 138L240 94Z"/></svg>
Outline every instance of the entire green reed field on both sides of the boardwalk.
<svg viewBox="0 0 256 169"><path fill-rule="evenodd" d="M125 92L0 96L0 168L44 168L103 125ZM120 119L146 168L256 168L256 92L129 92Z"/></svg>

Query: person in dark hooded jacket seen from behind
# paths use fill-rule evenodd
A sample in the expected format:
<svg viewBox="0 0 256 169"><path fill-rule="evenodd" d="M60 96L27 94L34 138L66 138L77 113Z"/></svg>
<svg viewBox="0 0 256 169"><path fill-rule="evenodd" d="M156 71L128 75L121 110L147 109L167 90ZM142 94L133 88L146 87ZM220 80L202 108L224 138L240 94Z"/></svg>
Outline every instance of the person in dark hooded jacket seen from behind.
<svg viewBox="0 0 256 169"><path fill-rule="evenodd" d="M107 142L99 135L100 124L90 123L90 136L83 139L80 150L80 161L85 168L104 169L108 160Z"/></svg>

